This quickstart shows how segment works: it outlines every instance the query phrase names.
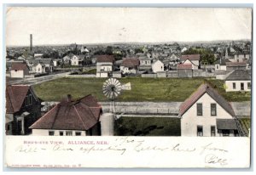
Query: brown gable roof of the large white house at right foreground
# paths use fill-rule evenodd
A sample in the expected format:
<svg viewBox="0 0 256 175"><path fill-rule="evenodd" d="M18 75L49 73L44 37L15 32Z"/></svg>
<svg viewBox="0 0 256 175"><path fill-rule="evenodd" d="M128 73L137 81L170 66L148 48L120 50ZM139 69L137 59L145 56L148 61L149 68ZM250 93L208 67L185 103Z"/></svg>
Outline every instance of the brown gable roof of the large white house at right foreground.
<svg viewBox="0 0 256 175"><path fill-rule="evenodd" d="M203 94L207 93L214 99L219 105L221 105L224 110L226 110L231 116L235 116L235 112L231 107L230 103L226 101L216 90L214 90L209 84L203 83L195 93L192 93L189 99L186 99L183 104L179 107L179 116L183 116L183 114L189 110L189 108L195 104L195 102L201 98Z"/></svg>

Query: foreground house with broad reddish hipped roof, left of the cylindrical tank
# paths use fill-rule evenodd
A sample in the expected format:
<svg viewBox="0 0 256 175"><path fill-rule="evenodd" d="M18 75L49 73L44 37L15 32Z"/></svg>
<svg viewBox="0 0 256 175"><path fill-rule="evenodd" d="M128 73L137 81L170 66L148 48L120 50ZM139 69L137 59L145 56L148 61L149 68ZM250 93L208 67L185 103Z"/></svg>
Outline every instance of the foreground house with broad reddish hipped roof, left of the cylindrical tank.
<svg viewBox="0 0 256 175"><path fill-rule="evenodd" d="M102 107L87 95L73 101L71 95L49 110L30 127L32 135L42 136L92 136L101 135L99 122Z"/></svg>

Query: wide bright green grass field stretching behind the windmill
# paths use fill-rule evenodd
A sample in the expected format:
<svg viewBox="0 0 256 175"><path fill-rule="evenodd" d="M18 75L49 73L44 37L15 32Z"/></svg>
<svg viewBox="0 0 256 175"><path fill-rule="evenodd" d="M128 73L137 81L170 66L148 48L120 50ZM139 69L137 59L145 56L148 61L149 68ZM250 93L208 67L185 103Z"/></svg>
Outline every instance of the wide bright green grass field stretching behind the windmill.
<svg viewBox="0 0 256 175"><path fill-rule="evenodd" d="M92 94L99 101L107 101L102 93L102 85L107 78L61 78L34 86L35 93L44 101L60 101L67 94L79 99ZM131 82L131 91L123 91L117 101L184 101L201 83L209 82L229 101L250 100L251 93L225 93L223 81L203 78L141 78L126 77L122 84Z"/></svg>

